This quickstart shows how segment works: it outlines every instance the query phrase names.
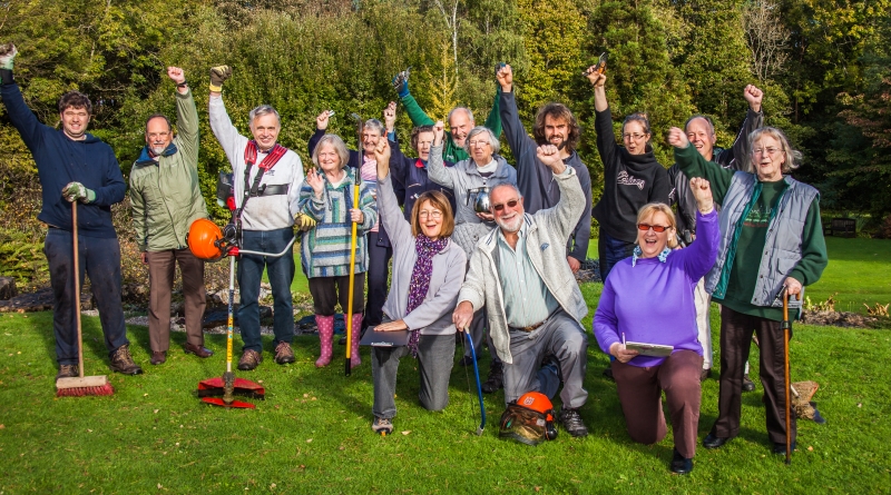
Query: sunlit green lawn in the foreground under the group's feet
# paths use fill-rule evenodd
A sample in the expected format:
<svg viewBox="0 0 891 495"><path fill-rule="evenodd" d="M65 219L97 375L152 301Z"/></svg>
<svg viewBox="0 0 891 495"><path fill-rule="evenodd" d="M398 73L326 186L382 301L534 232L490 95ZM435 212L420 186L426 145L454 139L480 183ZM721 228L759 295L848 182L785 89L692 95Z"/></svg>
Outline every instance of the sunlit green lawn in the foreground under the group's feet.
<svg viewBox="0 0 891 495"><path fill-rule="evenodd" d="M595 308L600 285L582 291ZM717 311L712 315L717 339ZM266 337L267 360L239 374L267 387L256 410L213 408L193 395L199 379L222 374L224 336L207 336L217 354L200 360L185 356L185 335L174 334L167 364L154 367L145 327L128 329L145 375L110 376L110 397L57 399L51 315L0 315L0 494L884 491L891 484L889 334L795 330L793 379L820 383L815 399L829 424L800 422L799 451L785 466L767 452L760 393L746 394L740 437L717 452L698 449L694 472L682 477L667 471L670 433L653 446L628 438L615 385L600 375L607 359L593 338L582 408L591 434L575 439L561 430L556 442L528 447L497 436L501 393L486 397L488 426L473 435L476 393L468 392L464 368L452 372L444 412L421 408L415 363L408 358L395 434L373 435L368 349L347 378L342 357L315 369L319 341L309 336L296 339L297 363L288 366L272 363ZM87 374L108 374L98 318L85 318L85 335ZM339 356L343 350L336 347ZM756 368L757 359L752 363ZM488 357L481 365L484 373ZM717 387L715 379L703 387L701 438L717 414Z"/></svg>

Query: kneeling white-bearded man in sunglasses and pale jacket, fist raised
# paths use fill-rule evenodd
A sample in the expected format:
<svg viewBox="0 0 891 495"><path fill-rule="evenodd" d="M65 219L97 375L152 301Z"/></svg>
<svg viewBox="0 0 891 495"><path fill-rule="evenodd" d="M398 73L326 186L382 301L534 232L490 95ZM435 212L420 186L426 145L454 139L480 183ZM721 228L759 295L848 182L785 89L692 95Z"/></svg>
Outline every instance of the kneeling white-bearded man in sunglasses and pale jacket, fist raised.
<svg viewBox="0 0 891 495"><path fill-rule="evenodd" d="M554 174L560 201L526 215L515 186L492 188L489 199L498 227L477 244L452 318L464 329L484 305L505 367L505 402L527 392L554 397L562 380L559 418L570 435L580 437L588 434L579 414L588 398L581 386L588 337L580 324L588 307L566 263L565 246L586 208L585 194L556 146L540 146L537 157Z"/></svg>

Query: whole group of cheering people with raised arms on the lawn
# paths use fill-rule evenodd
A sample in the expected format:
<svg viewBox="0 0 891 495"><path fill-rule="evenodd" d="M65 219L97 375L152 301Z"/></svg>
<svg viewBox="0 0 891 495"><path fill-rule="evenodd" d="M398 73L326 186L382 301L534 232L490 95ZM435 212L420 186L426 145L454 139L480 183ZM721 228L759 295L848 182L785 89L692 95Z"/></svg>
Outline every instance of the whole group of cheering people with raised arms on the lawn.
<svg viewBox="0 0 891 495"><path fill-rule="evenodd" d="M0 92L10 121L33 154L43 188L38 218L49 226L46 255L56 300L58 377L78 373L75 204L80 205L79 267L92 284L111 368L139 374L124 327L120 250L110 216L110 206L126 191L120 168L111 149L86 132L91 107L85 95L62 96L61 129L38 121L12 78L14 56L14 48L0 53ZM668 132L676 164L666 170L653 154L646 115L626 117L617 142L607 76L594 69L586 75L594 90L605 184L593 207L588 168L576 151L576 117L562 103L547 103L530 137L518 116L510 66L497 68L498 90L486 125L476 126L469 109L456 108L448 131L443 121L421 110L407 75L395 78L399 99L415 126L411 147L417 158L400 149L395 102L384 109L383 121L364 122L358 150L326 132L333 112L322 112L310 139L309 171L296 152L277 142L281 120L274 108L252 110L252 136L238 132L222 97L232 69L214 67L209 120L233 168L229 206L239 221L238 245L281 253L298 230L301 269L320 335L317 367L332 359L337 304L344 311L352 307L356 335L366 328L409 330L405 346L372 347L374 432L393 429L395 380L405 356L418 360L421 405L447 407L456 334L468 333L476 347L486 343L491 355L484 392L503 388L506 403L529 392L549 398L559 392L559 422L581 437L588 434L581 414L588 397L588 336L581 319L589 308L574 274L586 259L594 216L605 281L594 336L611 358L609 372L630 437L652 444L666 435L664 392L675 432L670 469L683 474L693 468L701 380L712 368L711 297L722 307L719 414L703 445L717 448L738 434L754 331L770 440L774 452L781 452L781 444L785 452L780 295L785 290L800 300L803 286L816 281L826 265L819 194L789 175L799 158L780 130L762 127L757 88L744 91L750 112L732 149L715 148L712 121L694 116L684 130ZM149 270L153 365L163 364L169 350L176 264L183 274L185 352L213 355L204 347L200 326L204 261L186 241L192 222L207 218L198 188L198 116L184 71L170 67L167 75L176 85L177 133L167 117L151 115L129 178L136 241ZM502 130L515 166L499 154ZM264 270L274 300L274 360L293 363L293 256L243 254L237 267L244 341L238 368L251 370L263 360L257 299ZM670 353L639 355L628 341L670 346ZM467 366L472 359L466 355L459 363ZM359 338L353 338L351 366L360 364ZM794 420L791 433L794 439Z"/></svg>

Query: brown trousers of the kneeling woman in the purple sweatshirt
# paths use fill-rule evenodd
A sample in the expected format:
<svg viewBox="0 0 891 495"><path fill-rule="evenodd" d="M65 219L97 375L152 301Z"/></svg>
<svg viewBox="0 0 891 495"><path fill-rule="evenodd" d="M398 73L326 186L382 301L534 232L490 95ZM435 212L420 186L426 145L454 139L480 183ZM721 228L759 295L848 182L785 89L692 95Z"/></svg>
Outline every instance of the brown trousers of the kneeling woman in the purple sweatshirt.
<svg viewBox="0 0 891 495"><path fill-rule="evenodd" d="M693 350L672 353L659 366L642 368L613 362L621 412L631 439L655 444L665 438L662 392L668 402L675 448L686 458L696 454L702 386L703 357Z"/></svg>

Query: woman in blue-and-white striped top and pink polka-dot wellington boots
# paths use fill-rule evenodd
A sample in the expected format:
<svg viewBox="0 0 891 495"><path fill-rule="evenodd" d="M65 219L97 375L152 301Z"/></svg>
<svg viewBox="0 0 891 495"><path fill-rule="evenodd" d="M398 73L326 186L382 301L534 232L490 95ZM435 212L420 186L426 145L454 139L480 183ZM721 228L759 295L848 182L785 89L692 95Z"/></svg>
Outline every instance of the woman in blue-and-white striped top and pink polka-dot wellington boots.
<svg viewBox="0 0 891 495"><path fill-rule="evenodd" d="M315 227L303 232L301 265L310 281L315 323L321 340L316 367L331 363L334 335L334 306L346 308L353 298L352 328L362 328L363 287L369 258L365 232L378 222L378 210L370 182L362 181L359 208L353 208L353 190L359 170L347 167L346 145L335 135L322 136L313 152L313 168L300 190L298 210L315 220ZM376 172L375 172L376 174ZM356 230L355 266L350 266L352 224ZM349 294L350 274L355 273L353 294ZM359 338L353 338L350 366L359 366Z"/></svg>

